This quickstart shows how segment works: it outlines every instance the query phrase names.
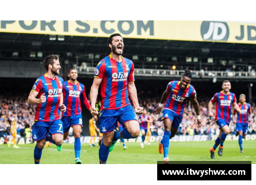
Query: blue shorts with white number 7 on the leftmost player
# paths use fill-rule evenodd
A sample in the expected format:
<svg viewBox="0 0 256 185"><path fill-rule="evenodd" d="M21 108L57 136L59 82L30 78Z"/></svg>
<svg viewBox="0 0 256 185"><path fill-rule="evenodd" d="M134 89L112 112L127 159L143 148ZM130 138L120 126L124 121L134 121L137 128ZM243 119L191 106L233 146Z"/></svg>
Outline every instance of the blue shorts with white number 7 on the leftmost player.
<svg viewBox="0 0 256 185"><path fill-rule="evenodd" d="M62 134L63 127L61 120L54 120L49 122L35 121L33 124L32 138L34 141L39 141L46 138L50 134Z"/></svg>

